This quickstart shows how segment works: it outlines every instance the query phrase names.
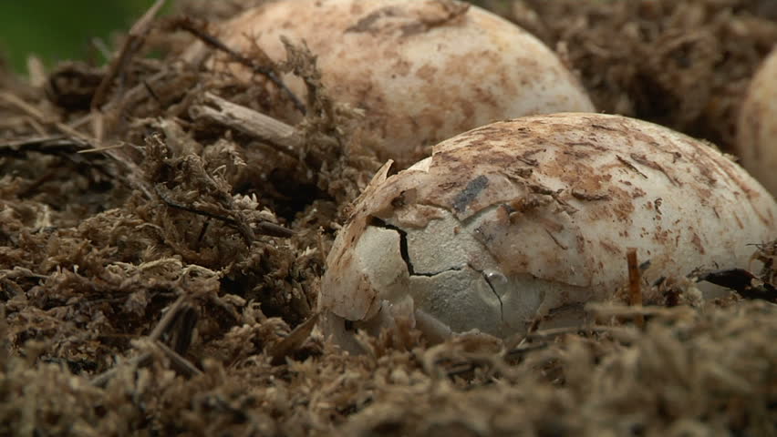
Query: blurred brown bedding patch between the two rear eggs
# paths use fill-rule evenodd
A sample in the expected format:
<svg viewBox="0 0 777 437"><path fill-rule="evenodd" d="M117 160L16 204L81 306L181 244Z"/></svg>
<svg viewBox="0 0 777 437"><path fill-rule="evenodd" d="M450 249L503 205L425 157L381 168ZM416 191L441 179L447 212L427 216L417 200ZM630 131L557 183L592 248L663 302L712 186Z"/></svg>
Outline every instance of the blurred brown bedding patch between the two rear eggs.
<svg viewBox="0 0 777 437"><path fill-rule="evenodd" d="M772 0L485 0L565 56L600 110L733 149L751 76L777 43Z"/></svg>

